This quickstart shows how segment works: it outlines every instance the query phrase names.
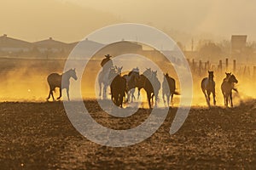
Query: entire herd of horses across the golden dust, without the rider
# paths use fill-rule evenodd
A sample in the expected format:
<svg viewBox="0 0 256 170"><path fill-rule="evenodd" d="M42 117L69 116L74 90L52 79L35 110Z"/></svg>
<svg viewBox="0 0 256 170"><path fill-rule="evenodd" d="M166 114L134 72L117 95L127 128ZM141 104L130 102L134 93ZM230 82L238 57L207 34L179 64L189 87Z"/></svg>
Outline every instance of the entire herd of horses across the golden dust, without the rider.
<svg viewBox="0 0 256 170"><path fill-rule="evenodd" d="M143 71L143 74L139 73L138 68L133 68L128 74L121 75L123 67L112 67L108 71L102 70L98 75L98 83L100 87L99 96L103 99L107 99L107 89L110 87L111 100L114 105L123 107L125 102L133 102L135 97L135 89L137 88L137 99L140 98L140 91L143 88L147 94L148 106L152 108L152 105L157 105L158 96L160 88L162 88L162 99L165 105L170 105L170 99L172 103L173 95L179 93L176 91L176 82L175 79L170 77L168 73L164 74L164 80L161 83L157 77L157 71L152 71L151 68L147 68L146 71ZM224 96L224 105L228 107L229 102L230 106L233 107L232 101L232 91L236 91L235 84L238 82L236 77L231 73L225 73L226 77L224 78L221 84L221 91ZM69 71L64 72L62 75L57 73L52 73L47 77L47 82L49 84L49 100L50 96L55 100L53 92L55 88L60 88L60 96L57 99L61 99L61 90L67 89L67 99L69 99L69 85L70 78L73 77L74 80L77 80L75 69L70 69ZM208 77L205 77L201 81L201 90L205 95L207 100L207 105L210 107L210 96L213 97L213 105L216 105L216 95L215 95L215 82L214 82L213 71L208 71ZM102 88L103 85L103 88ZM102 92L103 91L103 92Z"/></svg>

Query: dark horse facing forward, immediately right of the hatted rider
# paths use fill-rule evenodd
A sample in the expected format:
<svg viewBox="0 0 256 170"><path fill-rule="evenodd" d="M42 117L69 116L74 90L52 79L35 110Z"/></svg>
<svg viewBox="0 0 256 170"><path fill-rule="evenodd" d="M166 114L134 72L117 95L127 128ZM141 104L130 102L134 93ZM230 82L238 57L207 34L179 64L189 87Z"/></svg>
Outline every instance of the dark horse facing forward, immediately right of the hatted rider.
<svg viewBox="0 0 256 170"><path fill-rule="evenodd" d="M110 84L110 92L111 92L111 99L114 105L123 107L123 102L125 99L125 91L126 91L126 80L125 77L121 77L121 71L123 67L119 67L117 72L111 70L109 72L109 80L111 81Z"/></svg>

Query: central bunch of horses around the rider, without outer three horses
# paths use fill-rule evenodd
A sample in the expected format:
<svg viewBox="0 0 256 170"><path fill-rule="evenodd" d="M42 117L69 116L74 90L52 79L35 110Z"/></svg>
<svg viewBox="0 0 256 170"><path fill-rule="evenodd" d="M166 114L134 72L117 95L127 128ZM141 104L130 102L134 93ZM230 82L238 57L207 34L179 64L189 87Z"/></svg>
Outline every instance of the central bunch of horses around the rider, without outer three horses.
<svg viewBox="0 0 256 170"><path fill-rule="evenodd" d="M143 74L140 74L138 68L133 68L128 74L122 76L122 68L123 67L115 66L110 68L107 72L104 71L104 74L103 70L99 73L99 96L102 95L103 99L105 99L107 96L107 88L110 86L113 104L122 107L124 102L133 102L133 100L136 99L136 88L138 91L137 99L139 99L141 89L143 88L147 94L149 108L151 108L152 105L157 105L160 91L160 81L157 77L157 71L152 71L150 68L147 68ZM163 82L163 96L166 96L169 104L170 96L178 93L175 91L175 80L169 77L168 74L166 74L165 77L167 81ZM169 87L172 88L169 89Z"/></svg>

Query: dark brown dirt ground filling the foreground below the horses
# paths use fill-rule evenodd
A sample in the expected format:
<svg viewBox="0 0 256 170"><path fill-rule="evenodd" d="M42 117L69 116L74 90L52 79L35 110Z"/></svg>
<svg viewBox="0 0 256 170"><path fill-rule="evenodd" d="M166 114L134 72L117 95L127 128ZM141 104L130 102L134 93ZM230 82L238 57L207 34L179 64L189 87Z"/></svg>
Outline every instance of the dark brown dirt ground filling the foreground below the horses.
<svg viewBox="0 0 256 170"><path fill-rule="evenodd" d="M137 126L150 111L127 118L85 101L103 126ZM256 100L233 109L192 108L183 127L169 129L177 108L150 138L124 148L95 144L69 122L61 102L0 103L1 169L256 169ZM92 129L93 130L93 129Z"/></svg>

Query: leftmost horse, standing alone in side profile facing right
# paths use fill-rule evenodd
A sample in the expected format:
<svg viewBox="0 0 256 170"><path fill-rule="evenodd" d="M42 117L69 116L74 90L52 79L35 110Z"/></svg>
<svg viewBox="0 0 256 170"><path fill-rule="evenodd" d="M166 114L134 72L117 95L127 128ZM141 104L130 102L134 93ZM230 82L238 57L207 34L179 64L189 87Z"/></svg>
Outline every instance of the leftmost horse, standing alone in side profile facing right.
<svg viewBox="0 0 256 170"><path fill-rule="evenodd" d="M52 99L55 101L55 97L53 95L53 91L55 91L55 88L60 88L60 96L57 99L61 99L61 91L63 88L67 89L67 99L68 101L69 99L69 79L73 77L74 80L77 80L77 74L75 69L70 69L69 71L64 72L62 75L59 75L58 73L51 73L48 77L47 77L47 82L49 84L49 96L47 98L47 100L49 100L50 95L52 97ZM62 84L61 84L62 82Z"/></svg>

